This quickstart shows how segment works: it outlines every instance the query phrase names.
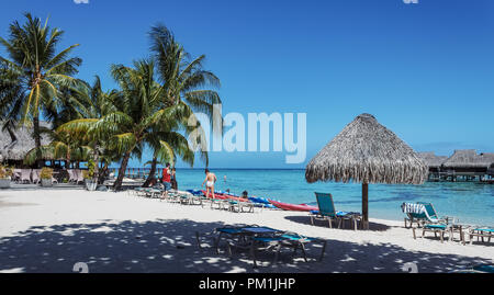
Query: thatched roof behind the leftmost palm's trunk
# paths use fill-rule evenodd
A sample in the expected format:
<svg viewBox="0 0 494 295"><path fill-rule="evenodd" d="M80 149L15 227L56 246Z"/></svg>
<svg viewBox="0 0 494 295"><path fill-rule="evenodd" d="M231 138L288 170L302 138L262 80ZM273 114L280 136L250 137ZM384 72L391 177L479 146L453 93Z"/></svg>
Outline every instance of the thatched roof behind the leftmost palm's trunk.
<svg viewBox="0 0 494 295"><path fill-rule="evenodd" d="M0 122L1 124L1 122ZM0 126L2 126L1 124ZM46 122L40 122L42 127L49 128ZM15 139L12 140L7 129L0 127L0 155L3 160L23 160L24 156L35 147L33 139L33 127L19 127L12 131ZM42 145L49 144L48 136L42 135Z"/></svg>

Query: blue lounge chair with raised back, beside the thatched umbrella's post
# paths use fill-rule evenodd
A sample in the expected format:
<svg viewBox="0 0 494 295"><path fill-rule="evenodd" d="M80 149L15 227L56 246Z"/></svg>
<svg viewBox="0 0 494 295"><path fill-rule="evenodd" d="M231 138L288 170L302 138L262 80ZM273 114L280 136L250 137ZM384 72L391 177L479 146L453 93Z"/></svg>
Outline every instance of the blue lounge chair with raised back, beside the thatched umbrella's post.
<svg viewBox="0 0 494 295"><path fill-rule="evenodd" d="M333 220L338 222L338 228L345 220L350 220L353 224L353 229L357 230L357 222L361 220L361 215L355 212L337 212L333 202L333 195L329 193L315 193L317 198L318 211L311 211L311 224L314 220L327 220L329 228L333 228Z"/></svg>

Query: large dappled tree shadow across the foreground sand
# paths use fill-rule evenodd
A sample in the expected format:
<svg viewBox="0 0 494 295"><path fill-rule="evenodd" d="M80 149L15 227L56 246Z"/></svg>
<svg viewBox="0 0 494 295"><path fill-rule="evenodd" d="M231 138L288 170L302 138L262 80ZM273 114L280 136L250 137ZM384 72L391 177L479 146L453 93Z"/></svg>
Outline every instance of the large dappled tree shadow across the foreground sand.
<svg viewBox="0 0 494 295"><path fill-rule="evenodd" d="M292 256L290 250L272 266L273 254L261 252L261 266L255 270L248 251L235 251L233 258L214 251L215 235L211 232L222 226L186 219L34 226L0 238L0 270L72 272L75 263L83 262L91 273L402 272L405 262L415 262L419 272L448 272L485 263L482 258L411 252L391 243L327 240L322 262L315 260L322 246L314 243L307 248L310 262L304 262L300 253ZM198 246L195 232L202 232L203 249Z"/></svg>

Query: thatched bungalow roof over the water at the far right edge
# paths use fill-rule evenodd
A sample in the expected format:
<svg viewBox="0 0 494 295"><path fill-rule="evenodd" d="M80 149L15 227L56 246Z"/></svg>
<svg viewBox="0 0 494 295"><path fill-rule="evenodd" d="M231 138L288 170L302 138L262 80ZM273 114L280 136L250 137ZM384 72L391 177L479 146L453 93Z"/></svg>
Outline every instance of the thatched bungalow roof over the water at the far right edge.
<svg viewBox="0 0 494 295"><path fill-rule="evenodd" d="M478 155L474 149L459 149L446 160L446 168L489 168L494 162L494 154Z"/></svg>

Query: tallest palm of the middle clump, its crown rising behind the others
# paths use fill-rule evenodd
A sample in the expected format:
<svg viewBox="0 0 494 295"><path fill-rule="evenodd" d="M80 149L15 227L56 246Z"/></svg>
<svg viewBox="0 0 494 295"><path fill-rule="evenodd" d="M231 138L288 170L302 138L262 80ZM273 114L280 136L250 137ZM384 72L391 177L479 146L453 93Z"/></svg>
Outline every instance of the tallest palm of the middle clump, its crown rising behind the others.
<svg viewBox="0 0 494 295"><path fill-rule="evenodd" d="M202 128L189 126L189 118L194 117L194 112L202 112L210 116L211 123L217 120L218 126L223 125L223 118L213 117L213 107L222 101L216 91L210 88L218 88L220 79L211 71L203 69L204 55L190 58L184 48L176 42L173 34L162 24L151 27L149 33L151 53L157 60L157 71L162 88L161 109L173 106L177 128L189 135L192 131L203 133ZM203 145L191 143L194 148L200 148L201 157L207 166L207 151ZM151 161L151 169L146 183L154 178L157 157Z"/></svg>

